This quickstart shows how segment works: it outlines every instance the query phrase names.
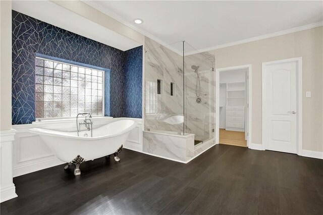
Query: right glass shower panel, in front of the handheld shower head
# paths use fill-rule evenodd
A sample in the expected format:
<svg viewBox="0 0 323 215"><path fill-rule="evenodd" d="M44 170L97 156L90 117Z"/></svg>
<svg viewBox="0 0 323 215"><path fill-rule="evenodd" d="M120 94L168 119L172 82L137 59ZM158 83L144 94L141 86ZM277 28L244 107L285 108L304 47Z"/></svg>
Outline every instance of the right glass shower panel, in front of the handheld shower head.
<svg viewBox="0 0 323 215"><path fill-rule="evenodd" d="M188 43L185 49L195 50ZM185 133L195 134L195 145L214 136L214 56L194 51L185 55ZM196 53L197 52L197 53Z"/></svg>

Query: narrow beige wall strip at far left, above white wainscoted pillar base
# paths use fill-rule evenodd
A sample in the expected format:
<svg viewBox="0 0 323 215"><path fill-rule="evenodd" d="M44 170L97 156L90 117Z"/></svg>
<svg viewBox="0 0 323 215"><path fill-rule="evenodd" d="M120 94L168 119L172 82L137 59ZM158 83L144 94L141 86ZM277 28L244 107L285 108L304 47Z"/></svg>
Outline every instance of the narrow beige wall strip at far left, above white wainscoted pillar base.
<svg viewBox="0 0 323 215"><path fill-rule="evenodd" d="M0 1L0 130L11 129L11 1Z"/></svg>

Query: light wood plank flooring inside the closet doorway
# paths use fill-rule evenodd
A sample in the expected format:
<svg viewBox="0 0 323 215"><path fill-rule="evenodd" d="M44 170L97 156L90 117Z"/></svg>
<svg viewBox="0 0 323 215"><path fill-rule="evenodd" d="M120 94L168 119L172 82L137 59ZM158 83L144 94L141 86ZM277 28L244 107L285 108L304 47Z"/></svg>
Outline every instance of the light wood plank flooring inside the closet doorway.
<svg viewBox="0 0 323 215"><path fill-rule="evenodd" d="M220 129L219 142L220 144L247 147L245 133L240 131L227 131L226 129Z"/></svg>

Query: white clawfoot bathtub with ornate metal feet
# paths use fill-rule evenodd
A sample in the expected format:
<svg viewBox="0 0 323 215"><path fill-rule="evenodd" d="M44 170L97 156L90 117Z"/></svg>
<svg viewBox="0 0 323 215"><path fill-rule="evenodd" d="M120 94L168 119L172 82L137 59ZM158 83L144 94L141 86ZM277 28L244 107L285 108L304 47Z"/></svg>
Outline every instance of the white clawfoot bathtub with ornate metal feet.
<svg viewBox="0 0 323 215"><path fill-rule="evenodd" d="M68 163L65 169L75 165L74 175L81 174L80 165L95 158L115 155L115 160L119 162L117 156L126 142L130 131L137 123L133 120L119 120L93 129L91 131L64 132L41 128L30 129L29 132L38 134L51 151L63 162Z"/></svg>

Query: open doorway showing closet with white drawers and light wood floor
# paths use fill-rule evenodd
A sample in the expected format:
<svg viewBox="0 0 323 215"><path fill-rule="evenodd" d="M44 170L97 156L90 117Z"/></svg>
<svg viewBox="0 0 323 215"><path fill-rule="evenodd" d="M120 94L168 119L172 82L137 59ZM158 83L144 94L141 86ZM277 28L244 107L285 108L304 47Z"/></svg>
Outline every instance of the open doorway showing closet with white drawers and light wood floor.
<svg viewBox="0 0 323 215"><path fill-rule="evenodd" d="M217 143L248 147L251 65L217 69Z"/></svg>

